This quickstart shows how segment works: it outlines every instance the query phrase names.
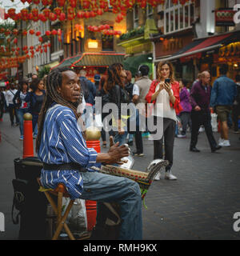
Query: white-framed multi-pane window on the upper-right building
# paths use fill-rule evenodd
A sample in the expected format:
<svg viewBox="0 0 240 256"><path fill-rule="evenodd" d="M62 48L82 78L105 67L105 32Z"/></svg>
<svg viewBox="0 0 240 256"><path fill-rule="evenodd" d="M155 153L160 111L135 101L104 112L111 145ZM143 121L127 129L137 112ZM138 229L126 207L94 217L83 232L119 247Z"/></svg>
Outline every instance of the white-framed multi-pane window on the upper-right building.
<svg viewBox="0 0 240 256"><path fill-rule="evenodd" d="M194 3L188 1L185 5L178 0L178 4L172 0L166 1L164 11L164 32L170 34L179 30L186 30L192 27L194 22Z"/></svg>

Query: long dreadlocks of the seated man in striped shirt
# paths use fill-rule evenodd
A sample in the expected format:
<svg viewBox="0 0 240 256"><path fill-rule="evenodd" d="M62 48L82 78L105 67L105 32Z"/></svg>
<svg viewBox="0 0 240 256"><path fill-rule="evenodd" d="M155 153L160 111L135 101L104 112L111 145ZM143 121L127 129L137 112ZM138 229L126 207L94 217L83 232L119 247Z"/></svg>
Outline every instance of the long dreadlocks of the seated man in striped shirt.
<svg viewBox="0 0 240 256"><path fill-rule="evenodd" d="M77 112L77 107L78 107L78 104L82 103L82 90L81 90L81 96L77 103L67 102L64 98L62 98L60 94L58 94L58 91L57 91L58 87L62 87L62 73L69 70L73 71L68 67L56 68L52 70L46 78L46 97L44 99L44 102L42 104L42 109L38 117L38 137L36 139L36 152L38 152L40 147L42 129L43 129L46 112L54 102L61 104L62 106L69 107L71 110L74 111L75 117L77 119L81 117L81 114Z"/></svg>

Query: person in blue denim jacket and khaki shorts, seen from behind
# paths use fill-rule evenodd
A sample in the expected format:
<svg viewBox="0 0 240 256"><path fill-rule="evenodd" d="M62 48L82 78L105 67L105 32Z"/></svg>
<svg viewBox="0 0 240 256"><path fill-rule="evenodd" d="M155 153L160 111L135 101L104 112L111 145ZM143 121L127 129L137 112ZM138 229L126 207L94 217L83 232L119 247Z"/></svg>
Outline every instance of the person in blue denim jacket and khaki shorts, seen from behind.
<svg viewBox="0 0 240 256"><path fill-rule="evenodd" d="M227 64L223 64L219 69L220 77L214 81L210 98L210 106L214 108L216 114L218 114L218 120L221 126L219 146L230 146L227 121L230 117L234 99L237 96L237 86L232 79L227 78L227 71Z"/></svg>

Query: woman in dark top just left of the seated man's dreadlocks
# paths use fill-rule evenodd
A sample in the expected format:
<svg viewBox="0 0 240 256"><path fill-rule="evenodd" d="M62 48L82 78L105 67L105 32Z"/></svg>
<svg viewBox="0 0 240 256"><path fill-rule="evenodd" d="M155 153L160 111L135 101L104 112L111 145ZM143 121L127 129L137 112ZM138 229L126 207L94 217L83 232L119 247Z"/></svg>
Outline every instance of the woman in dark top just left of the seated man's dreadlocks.
<svg viewBox="0 0 240 256"><path fill-rule="evenodd" d="M25 101L29 103L29 111L33 116L33 133L34 138L38 135L38 116L42 108L42 103L45 98L44 82L38 78L35 78L30 83L31 91L26 95Z"/></svg>

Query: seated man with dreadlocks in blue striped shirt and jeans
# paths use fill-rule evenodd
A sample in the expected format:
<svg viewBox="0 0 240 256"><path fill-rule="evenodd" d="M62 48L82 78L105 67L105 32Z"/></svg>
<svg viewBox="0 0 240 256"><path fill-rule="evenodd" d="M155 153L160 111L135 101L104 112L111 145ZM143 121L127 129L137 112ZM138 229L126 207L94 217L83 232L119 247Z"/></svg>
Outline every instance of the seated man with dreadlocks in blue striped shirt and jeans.
<svg viewBox="0 0 240 256"><path fill-rule="evenodd" d="M108 153L98 154L87 148L81 114L77 112L81 102L77 74L66 68L52 70L46 79L46 98L38 119L36 142L38 158L43 162L42 186L54 189L61 182L70 198L97 201L98 226L101 226L101 203L118 202L122 218L118 238L142 239L142 199L138 183L91 169L96 162L119 163L128 155L128 148L116 143Z"/></svg>

